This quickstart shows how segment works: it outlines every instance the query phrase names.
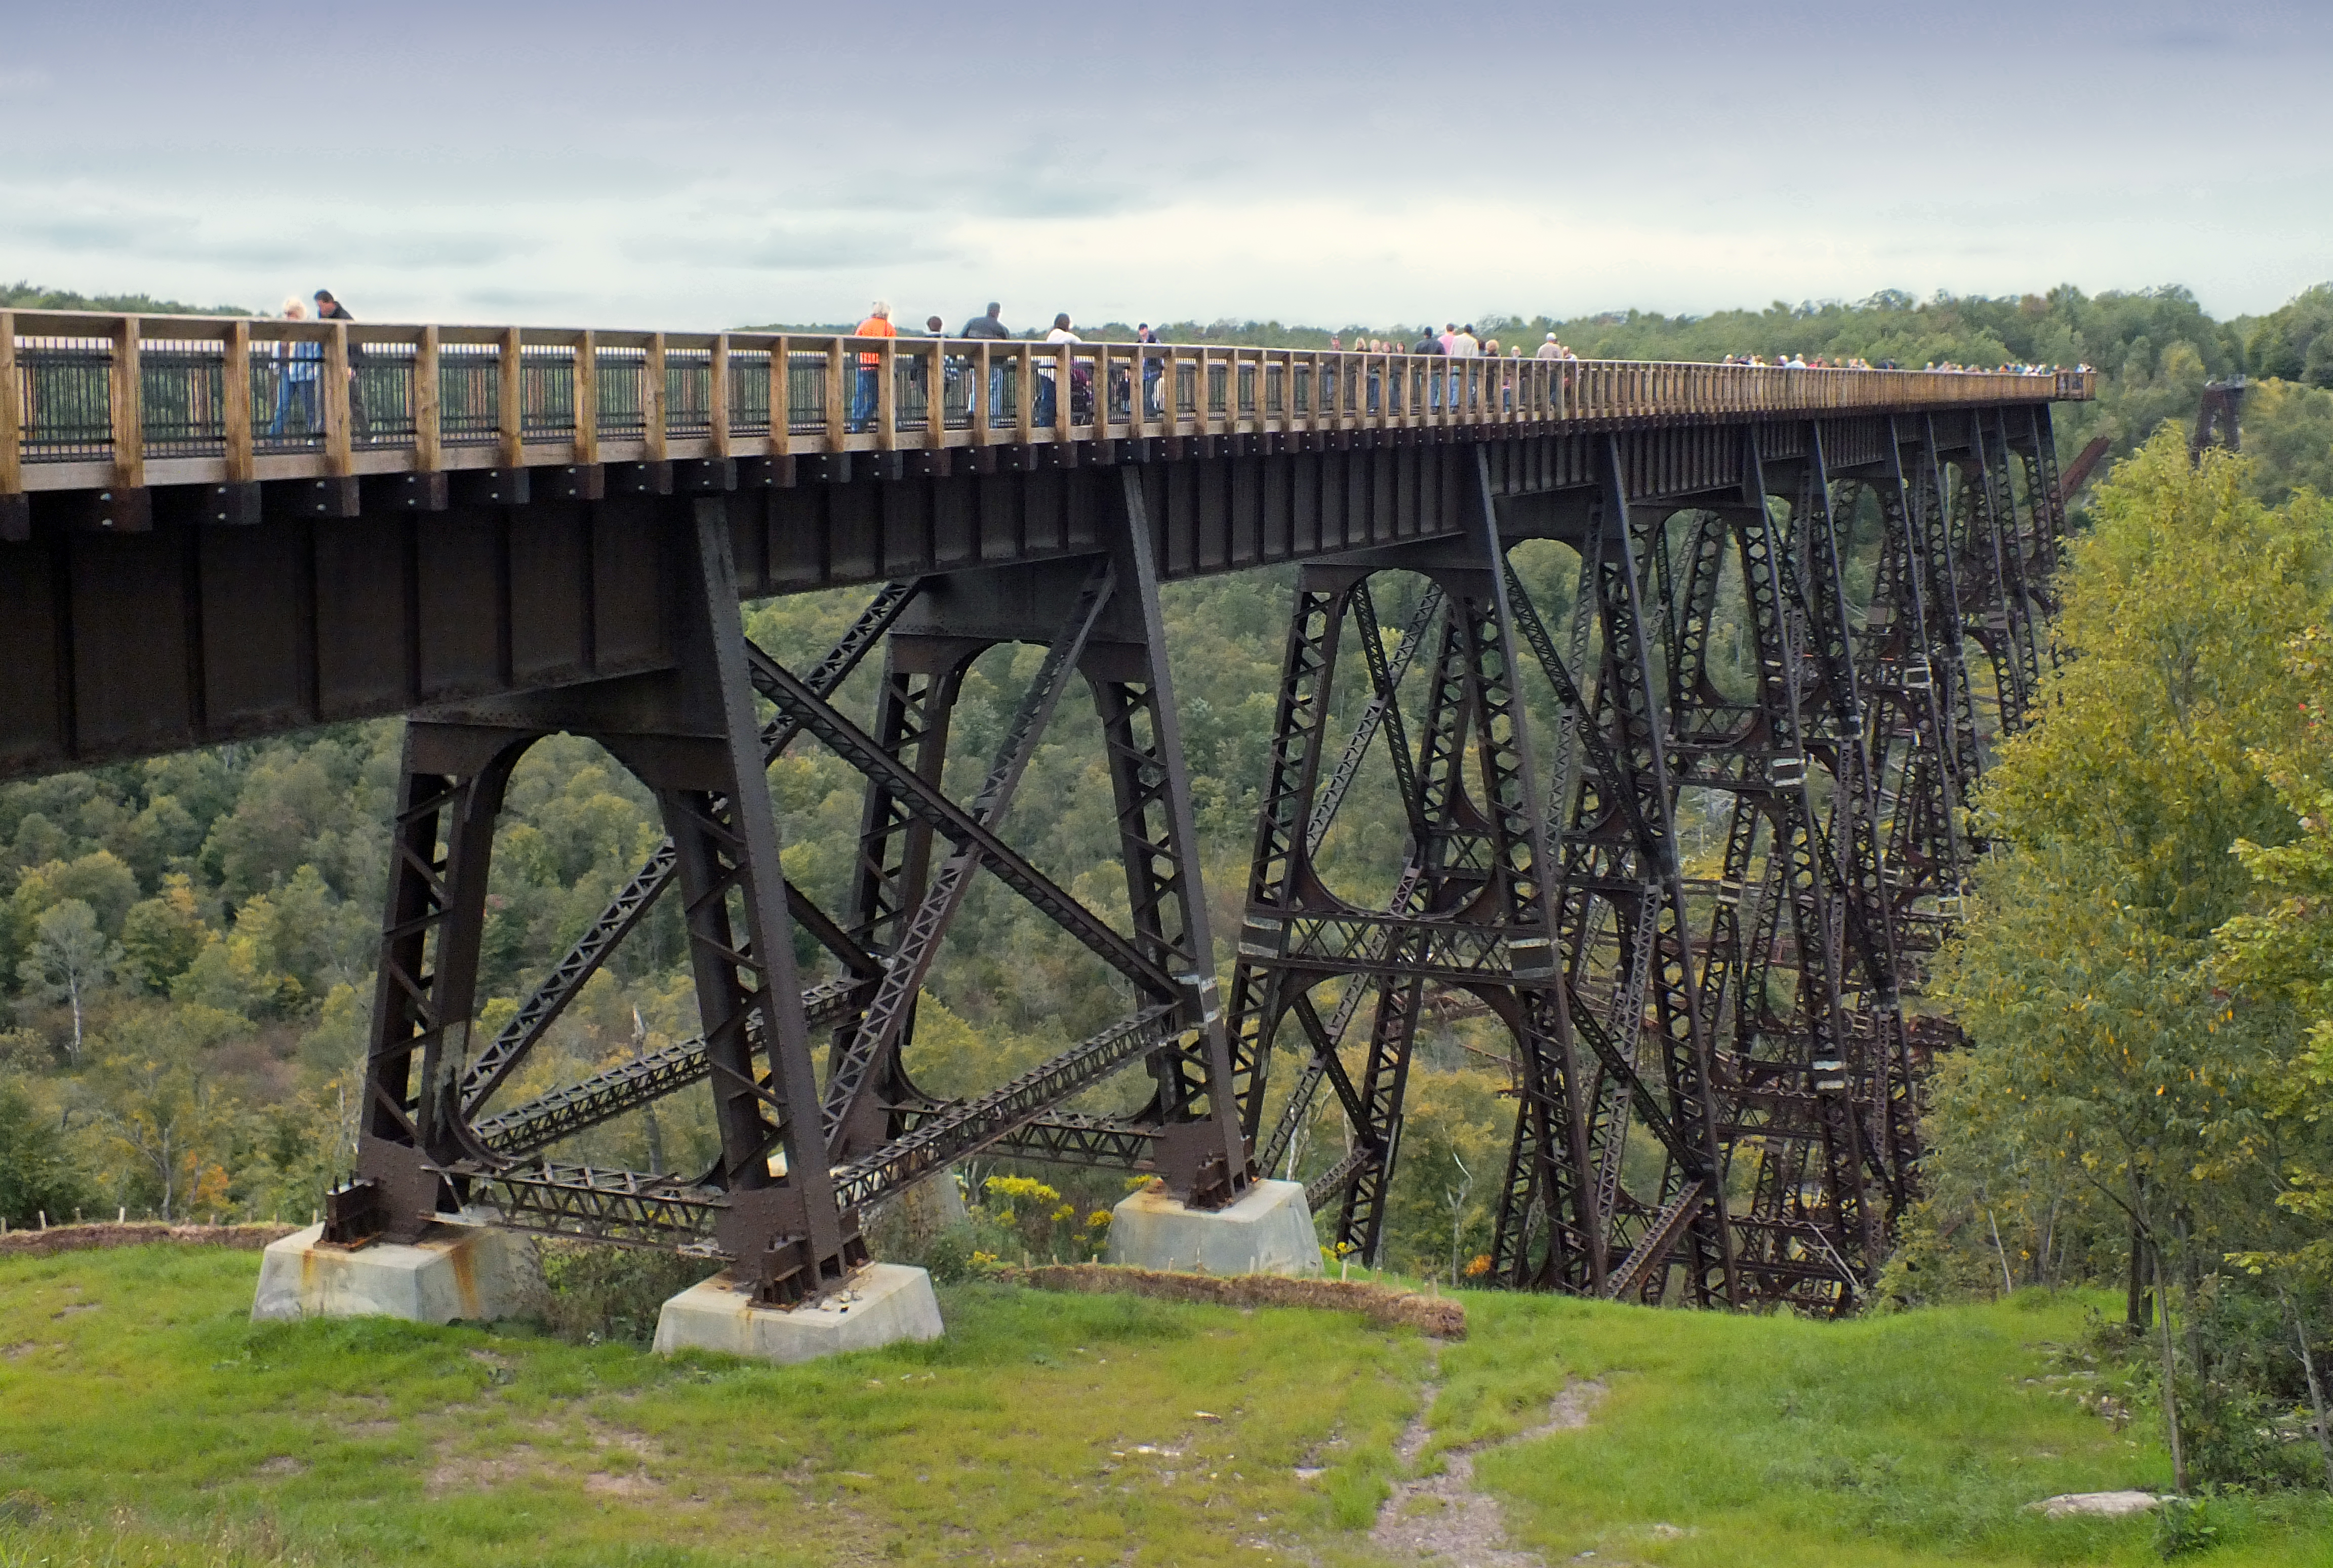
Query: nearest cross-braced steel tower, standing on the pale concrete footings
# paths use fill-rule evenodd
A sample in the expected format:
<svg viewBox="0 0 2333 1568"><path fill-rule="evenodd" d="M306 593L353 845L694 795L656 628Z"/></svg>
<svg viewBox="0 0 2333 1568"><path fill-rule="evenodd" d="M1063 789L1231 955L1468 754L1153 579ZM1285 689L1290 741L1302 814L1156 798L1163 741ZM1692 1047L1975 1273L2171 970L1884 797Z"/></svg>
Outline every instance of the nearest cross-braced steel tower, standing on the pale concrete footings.
<svg viewBox="0 0 2333 1568"><path fill-rule="evenodd" d="M1220 1204L1248 1183L1229 1043L1204 957L1211 938L1192 866L1190 786L1180 765L1153 539L1141 488L1125 488L1113 548L1064 576L1041 565L987 581L982 637L957 637L926 614L903 616L929 583L875 595L812 667L791 672L737 637L726 530L700 511L681 565L702 583L681 639L688 667L642 693L632 679L429 714L408 730L383 980L366 1073L359 1171L331 1195L331 1234L362 1244L411 1237L429 1216L469 1204L520 1230L679 1246L721 1258L765 1300L819 1295L866 1258L859 1209L966 1155L1001 1148L1036 1160L1155 1169L1192 1204ZM1003 581L996 581L996 579ZM728 593L723 595L723 590ZM964 583L947 593L961 600ZM1031 611L1029 604L1036 604ZM1010 614L1006 614L1010 621ZM945 796L947 707L971 660L999 642L1041 642L1045 658L971 805ZM882 737L833 698L887 646ZM940 667L931 649L945 644ZM1059 698L1092 686L1127 852L1132 931L1120 933L996 838ZM751 723L751 702L775 716ZM476 1055L464 1050L483 924L492 819L511 768L551 730L600 737L656 791L667 842L583 940ZM868 777L861 875L842 919L775 875L761 770L810 735ZM950 856L933 870L931 845ZM1136 1010L994 1092L964 1101L922 1094L903 1069L912 1003L975 873L1029 898L1136 989ZM581 1080L495 1108L560 1010L667 887L681 889L705 1031L642 1050ZM840 975L800 985L791 926ZM761 954L775 961L763 966ZM824 1083L810 1031L835 1034ZM1134 1064L1153 1092L1132 1115L1076 1111L1078 1094ZM702 1174L621 1171L544 1157L565 1139L642 1106L709 1085L721 1160ZM812 1115L812 1106L817 1113Z"/></svg>

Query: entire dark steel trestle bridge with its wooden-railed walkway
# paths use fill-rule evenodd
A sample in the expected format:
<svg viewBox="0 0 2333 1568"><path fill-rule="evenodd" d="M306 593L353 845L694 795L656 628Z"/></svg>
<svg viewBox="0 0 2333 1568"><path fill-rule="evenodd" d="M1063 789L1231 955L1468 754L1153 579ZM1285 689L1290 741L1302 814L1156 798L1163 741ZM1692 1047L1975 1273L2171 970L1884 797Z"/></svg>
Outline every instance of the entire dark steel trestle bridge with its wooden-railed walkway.
<svg viewBox="0 0 2333 1568"><path fill-rule="evenodd" d="M1311 1197L1372 1253L1421 1017L1463 996L1512 1038L1493 1281L1838 1309L1913 1197L1920 1071L1950 1027L1906 992L1978 849L1967 789L2048 660L2048 406L2090 392L0 313L0 777L408 714L359 1169L329 1197L345 1244L471 1204L723 1258L789 1302L866 1255L866 1204L952 1160L1157 1171L1211 1206L1285 1162L1330 1094L1353 1146ZM1873 506L1876 581L1850 595L1848 525ZM1572 602L1523 593L1509 551L1530 539L1577 551ZM1295 614L1220 989L1160 583L1267 565L1297 567ZM1379 574L1411 574L1400 639ZM807 670L742 635L740 600L854 583L873 600ZM1712 677L1719 621L1754 644L1747 693ZM950 712L1001 642L1045 656L957 800ZM835 698L877 656L861 721ZM999 833L1073 677L1127 929ZM1351 730L1339 679L1367 693ZM1526 686L1551 693L1551 733ZM495 817L555 730L639 775L667 840L488 1038ZM779 868L765 765L796 744L866 779L838 910ZM1353 903L1316 856L1372 756L1409 849ZM1724 821L1715 880L1687 877L1680 807ZM938 1099L903 1050L982 873L1132 1008ZM702 1036L499 1101L674 884ZM1078 1108L1122 1071L1148 1073L1141 1111ZM691 1085L716 1106L709 1171L558 1160ZM1631 1127L1656 1160L1624 1162Z"/></svg>

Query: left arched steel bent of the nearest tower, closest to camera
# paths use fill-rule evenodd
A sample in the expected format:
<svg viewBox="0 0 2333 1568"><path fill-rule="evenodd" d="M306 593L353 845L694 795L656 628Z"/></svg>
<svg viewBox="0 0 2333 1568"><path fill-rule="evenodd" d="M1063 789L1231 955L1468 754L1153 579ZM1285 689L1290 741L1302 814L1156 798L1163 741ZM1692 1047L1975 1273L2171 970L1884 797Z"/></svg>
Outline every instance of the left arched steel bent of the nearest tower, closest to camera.
<svg viewBox="0 0 2333 1568"><path fill-rule="evenodd" d="M665 546L684 583L677 667L623 686L441 712L406 730L397 861L383 922L380 987L366 1052L357 1181L334 1192L338 1239L418 1234L441 1206L499 1195L513 1223L555 1225L607 1192L609 1232L674 1232L709 1213L663 1176L523 1176L471 1125L462 1055L476 1010L492 821L520 754L541 735L593 735L653 791L705 1024L698 1055L714 1087L721 1157L702 1188L723 1195L723 1246L765 1300L800 1300L866 1258L856 1216L835 1204L817 1104L765 754L735 616L728 530L716 504L674 518ZM443 826L443 849L439 849ZM677 1062L637 1066L604 1099L637 1099ZM590 1094L560 1113L604 1111ZM551 1108L544 1108L553 1118ZM688 1218L693 1216L693 1218Z"/></svg>

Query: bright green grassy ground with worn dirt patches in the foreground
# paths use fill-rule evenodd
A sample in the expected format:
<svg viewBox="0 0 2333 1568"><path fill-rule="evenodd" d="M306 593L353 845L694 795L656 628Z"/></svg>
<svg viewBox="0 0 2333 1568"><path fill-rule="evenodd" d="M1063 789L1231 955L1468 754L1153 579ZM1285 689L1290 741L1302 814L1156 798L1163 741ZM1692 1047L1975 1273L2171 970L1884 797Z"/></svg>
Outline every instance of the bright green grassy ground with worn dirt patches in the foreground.
<svg viewBox="0 0 2333 1568"><path fill-rule="evenodd" d="M2151 1433L2062 1393L2074 1297L1820 1325L1470 1295L1470 1337L1435 1344L966 1286L940 1344L777 1370L511 1325L254 1328L254 1272L0 1260L0 1568L1381 1563L1428 1393L1414 1468L1481 1444L1477 1484L1549 1563L2146 1563L2146 1519L2023 1505L2167 1482ZM1584 1428L1509 1442L1577 1379L1607 1388ZM2212 1512L2184 1561L2333 1568L2319 1496Z"/></svg>

